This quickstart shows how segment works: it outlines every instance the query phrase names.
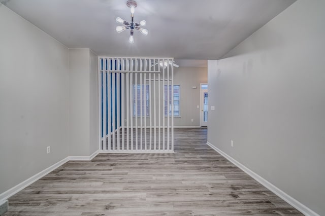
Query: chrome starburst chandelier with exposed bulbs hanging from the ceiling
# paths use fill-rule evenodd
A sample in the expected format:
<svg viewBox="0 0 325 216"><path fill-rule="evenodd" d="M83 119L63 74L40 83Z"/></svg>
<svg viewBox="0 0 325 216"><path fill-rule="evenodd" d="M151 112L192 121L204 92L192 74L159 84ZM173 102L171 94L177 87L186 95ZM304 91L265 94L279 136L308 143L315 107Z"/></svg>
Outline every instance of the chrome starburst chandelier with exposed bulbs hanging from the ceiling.
<svg viewBox="0 0 325 216"><path fill-rule="evenodd" d="M126 29L131 29L130 32L130 37L128 39L128 42L133 44L134 43L134 29L140 31L142 34L147 35L148 34L148 30L145 28L141 28L140 26L145 26L147 24L147 22L145 20L142 20L141 22L134 22L134 12L135 9L137 7L137 2L134 0L128 0L126 2L127 7L129 7L130 11L131 11L131 23L126 22L125 20L123 20L120 17L116 18L116 22L119 24L123 24L124 26L116 26L116 31L118 33L121 33L122 31L126 30Z"/></svg>

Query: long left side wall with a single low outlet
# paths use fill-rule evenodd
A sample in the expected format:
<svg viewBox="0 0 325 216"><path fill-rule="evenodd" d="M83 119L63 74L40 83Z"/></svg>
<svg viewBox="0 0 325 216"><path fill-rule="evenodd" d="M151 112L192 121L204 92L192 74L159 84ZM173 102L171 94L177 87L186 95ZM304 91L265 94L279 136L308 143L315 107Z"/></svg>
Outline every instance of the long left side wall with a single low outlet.
<svg viewBox="0 0 325 216"><path fill-rule="evenodd" d="M69 143L68 48L1 4L0 31L1 194L66 158Z"/></svg>

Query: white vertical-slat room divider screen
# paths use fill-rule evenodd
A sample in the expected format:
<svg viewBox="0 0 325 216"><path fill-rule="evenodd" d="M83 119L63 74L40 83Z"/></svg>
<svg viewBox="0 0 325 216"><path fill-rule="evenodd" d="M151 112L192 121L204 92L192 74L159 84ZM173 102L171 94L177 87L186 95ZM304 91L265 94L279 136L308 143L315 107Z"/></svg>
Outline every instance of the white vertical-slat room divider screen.
<svg viewBox="0 0 325 216"><path fill-rule="evenodd" d="M173 58L99 57L102 152L174 152L174 68L169 62Z"/></svg>

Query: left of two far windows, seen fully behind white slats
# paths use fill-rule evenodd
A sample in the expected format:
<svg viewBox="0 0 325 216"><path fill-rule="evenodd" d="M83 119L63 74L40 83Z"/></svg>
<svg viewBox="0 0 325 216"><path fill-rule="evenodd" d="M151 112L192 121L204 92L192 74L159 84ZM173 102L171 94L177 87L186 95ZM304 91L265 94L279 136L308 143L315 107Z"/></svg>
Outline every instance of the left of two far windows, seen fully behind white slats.
<svg viewBox="0 0 325 216"><path fill-rule="evenodd" d="M142 85L142 101L141 101L141 94L140 94L140 87L141 85L133 85L133 116L136 116L136 111L138 111L138 115L140 116L140 109L141 109L141 102L142 102L142 116L144 116L144 110L146 110L146 116L149 116L149 85L146 85L146 105L144 105L144 85ZM136 94L137 94L137 101L136 101ZM136 110L136 107L138 110ZM146 107L146 109L145 109Z"/></svg>

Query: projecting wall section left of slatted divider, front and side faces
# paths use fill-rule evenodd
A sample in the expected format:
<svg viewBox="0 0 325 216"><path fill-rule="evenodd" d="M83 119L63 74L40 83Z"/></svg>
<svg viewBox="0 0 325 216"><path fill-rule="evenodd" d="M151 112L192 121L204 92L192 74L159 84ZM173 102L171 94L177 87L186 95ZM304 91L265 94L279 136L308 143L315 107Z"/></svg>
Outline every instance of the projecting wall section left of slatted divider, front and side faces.
<svg viewBox="0 0 325 216"><path fill-rule="evenodd" d="M98 150L97 57L89 49L69 49L70 155Z"/></svg>

